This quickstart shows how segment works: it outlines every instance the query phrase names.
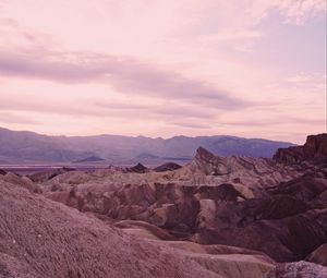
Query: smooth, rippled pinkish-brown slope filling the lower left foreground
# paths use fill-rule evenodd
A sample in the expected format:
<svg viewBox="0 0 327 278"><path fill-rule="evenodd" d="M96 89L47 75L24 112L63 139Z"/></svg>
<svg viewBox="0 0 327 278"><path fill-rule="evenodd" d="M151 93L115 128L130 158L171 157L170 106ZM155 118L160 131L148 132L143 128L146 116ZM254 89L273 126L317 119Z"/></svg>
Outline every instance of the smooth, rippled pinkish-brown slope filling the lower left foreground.
<svg viewBox="0 0 327 278"><path fill-rule="evenodd" d="M172 249L0 183L0 277L220 277Z"/></svg>

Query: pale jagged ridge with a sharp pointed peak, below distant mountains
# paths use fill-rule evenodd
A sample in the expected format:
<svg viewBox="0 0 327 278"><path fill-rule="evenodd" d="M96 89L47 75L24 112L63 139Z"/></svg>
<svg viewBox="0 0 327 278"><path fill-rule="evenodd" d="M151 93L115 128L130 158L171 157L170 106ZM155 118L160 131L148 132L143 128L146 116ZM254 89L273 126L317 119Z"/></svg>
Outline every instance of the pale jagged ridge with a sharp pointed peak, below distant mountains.
<svg viewBox="0 0 327 278"><path fill-rule="evenodd" d="M177 171L177 182L187 185L232 183L251 195L261 190L299 177L291 166L276 164L268 158L245 156L219 157L199 147L194 159Z"/></svg>

